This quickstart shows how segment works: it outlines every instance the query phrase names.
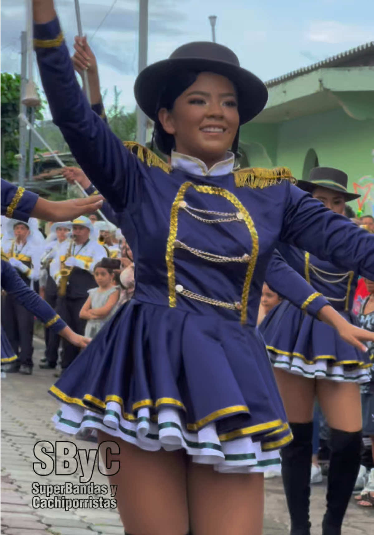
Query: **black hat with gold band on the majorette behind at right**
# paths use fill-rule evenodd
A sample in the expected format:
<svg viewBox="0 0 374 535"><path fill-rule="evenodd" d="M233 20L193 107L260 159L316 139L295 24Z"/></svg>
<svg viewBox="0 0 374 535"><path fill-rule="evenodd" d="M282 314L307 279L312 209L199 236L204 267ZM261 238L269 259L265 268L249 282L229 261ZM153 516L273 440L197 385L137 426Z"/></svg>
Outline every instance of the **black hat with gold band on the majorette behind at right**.
<svg viewBox="0 0 374 535"><path fill-rule="evenodd" d="M348 176L334 167L315 167L311 170L309 180L298 180L297 186L305 192L312 193L316 187L332 189L342 193L346 201L358 199L361 195L347 191Z"/></svg>

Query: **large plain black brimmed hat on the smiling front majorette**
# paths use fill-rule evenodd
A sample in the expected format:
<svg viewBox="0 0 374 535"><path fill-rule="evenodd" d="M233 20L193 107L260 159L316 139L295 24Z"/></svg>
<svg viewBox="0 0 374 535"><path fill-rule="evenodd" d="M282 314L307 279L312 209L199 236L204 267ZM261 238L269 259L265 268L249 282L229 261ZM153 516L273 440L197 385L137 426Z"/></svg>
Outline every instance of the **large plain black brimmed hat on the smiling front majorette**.
<svg viewBox="0 0 374 535"><path fill-rule="evenodd" d="M181 71L214 72L234 83L238 93L240 124L265 108L266 86L255 74L245 70L232 50L210 41L187 43L161 62L141 71L135 81L134 94L139 108L155 120L160 96L173 75Z"/></svg>

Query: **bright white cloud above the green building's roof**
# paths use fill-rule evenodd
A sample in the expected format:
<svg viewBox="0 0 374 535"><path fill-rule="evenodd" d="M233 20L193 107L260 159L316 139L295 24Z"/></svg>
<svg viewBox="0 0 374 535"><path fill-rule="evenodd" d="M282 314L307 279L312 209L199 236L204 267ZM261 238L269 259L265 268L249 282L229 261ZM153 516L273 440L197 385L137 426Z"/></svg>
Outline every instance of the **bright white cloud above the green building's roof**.
<svg viewBox="0 0 374 535"><path fill-rule="evenodd" d="M365 43L374 39L374 27L343 24L336 20L313 20L306 38L309 41L328 44Z"/></svg>

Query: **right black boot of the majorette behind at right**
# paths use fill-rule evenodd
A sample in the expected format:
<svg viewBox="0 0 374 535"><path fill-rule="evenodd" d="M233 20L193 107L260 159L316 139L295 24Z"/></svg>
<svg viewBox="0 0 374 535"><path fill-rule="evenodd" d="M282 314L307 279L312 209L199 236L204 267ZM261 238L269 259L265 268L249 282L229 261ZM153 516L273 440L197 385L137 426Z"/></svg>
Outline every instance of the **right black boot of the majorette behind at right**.
<svg viewBox="0 0 374 535"><path fill-rule="evenodd" d="M327 510L323 535L340 535L343 518L352 495L361 460L362 432L331 430L330 468L327 477Z"/></svg>

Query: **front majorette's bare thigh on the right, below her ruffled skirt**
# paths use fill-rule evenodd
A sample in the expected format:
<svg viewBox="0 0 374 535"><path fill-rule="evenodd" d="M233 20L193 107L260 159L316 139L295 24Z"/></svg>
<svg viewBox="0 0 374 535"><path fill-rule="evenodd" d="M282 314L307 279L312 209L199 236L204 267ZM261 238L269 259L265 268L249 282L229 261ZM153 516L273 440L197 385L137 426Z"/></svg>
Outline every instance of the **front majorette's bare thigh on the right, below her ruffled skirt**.
<svg viewBox="0 0 374 535"><path fill-rule="evenodd" d="M218 473L190 462L188 501L193 535L261 535L264 517L262 473Z"/></svg>

